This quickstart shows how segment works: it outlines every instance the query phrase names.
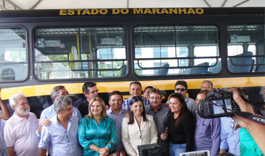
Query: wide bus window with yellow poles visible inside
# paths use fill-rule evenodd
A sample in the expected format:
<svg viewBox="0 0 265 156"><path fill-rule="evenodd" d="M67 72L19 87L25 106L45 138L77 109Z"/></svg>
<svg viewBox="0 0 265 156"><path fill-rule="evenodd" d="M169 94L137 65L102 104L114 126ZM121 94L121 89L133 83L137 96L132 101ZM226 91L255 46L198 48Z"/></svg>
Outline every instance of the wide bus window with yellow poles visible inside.
<svg viewBox="0 0 265 156"><path fill-rule="evenodd" d="M121 27L38 28L36 36L35 76L39 79L127 74L125 31Z"/></svg>

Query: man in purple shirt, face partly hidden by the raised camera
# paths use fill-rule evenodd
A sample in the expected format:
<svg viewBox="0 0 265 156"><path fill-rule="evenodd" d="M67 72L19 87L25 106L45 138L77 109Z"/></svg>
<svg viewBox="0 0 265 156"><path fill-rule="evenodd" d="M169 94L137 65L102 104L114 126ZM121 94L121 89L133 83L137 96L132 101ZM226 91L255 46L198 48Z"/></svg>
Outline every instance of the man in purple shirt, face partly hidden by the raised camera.
<svg viewBox="0 0 265 156"><path fill-rule="evenodd" d="M207 90L201 90L196 97L196 105L207 97ZM196 129L194 134L194 150L209 150L211 155L217 155L220 147L220 118L204 119L197 111L193 112Z"/></svg>

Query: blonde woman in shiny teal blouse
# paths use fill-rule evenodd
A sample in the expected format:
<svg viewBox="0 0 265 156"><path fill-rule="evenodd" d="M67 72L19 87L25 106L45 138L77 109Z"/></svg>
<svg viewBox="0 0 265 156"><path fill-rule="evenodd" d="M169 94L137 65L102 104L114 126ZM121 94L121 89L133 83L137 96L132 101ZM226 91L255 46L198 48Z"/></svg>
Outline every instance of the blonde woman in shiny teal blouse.
<svg viewBox="0 0 265 156"><path fill-rule="evenodd" d="M100 97L90 100L89 114L79 122L78 138L84 156L106 156L114 150L108 143L117 144L116 126L114 120L107 117L105 103Z"/></svg>

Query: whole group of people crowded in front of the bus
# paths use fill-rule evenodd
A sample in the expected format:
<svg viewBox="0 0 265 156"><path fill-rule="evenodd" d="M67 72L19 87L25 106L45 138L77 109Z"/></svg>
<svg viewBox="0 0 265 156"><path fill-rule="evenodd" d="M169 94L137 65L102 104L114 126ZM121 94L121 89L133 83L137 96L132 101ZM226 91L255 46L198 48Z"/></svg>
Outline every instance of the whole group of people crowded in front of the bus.
<svg viewBox="0 0 265 156"><path fill-rule="evenodd" d="M42 111L39 121L30 112L23 94L10 97L10 105L15 110L11 118L0 98L0 117L9 118L3 136L0 133L0 145L3 145L0 154L44 156L48 149L51 156L106 156L114 151L114 144L118 151L136 156L138 145L153 143L161 146L162 156L199 150L210 150L213 156L226 151L234 155L262 155L265 149L261 148L264 141L257 142L257 136L253 136L260 127L250 131L250 123L239 118L204 119L197 114L196 105L207 97L207 92L214 90L208 80L202 82L196 100L186 95L185 81L176 81L175 93L166 103L161 103L162 92L152 86L146 87L141 96L143 90L138 81L130 84L131 96L125 100L121 92L111 92L109 105L98 97L96 83L84 83L82 90L86 99L74 104L64 86L54 87L53 105ZM234 92L233 98L241 110L256 114L236 96L238 93L245 97L243 90L232 87L227 91ZM265 95L265 88L263 92ZM236 122L242 128L234 128Z"/></svg>

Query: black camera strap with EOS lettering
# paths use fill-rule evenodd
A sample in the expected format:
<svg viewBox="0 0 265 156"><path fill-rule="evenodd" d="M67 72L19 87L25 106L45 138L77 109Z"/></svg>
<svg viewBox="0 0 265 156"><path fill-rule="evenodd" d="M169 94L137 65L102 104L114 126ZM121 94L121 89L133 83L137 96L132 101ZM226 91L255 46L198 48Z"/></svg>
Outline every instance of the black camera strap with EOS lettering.
<svg viewBox="0 0 265 156"><path fill-rule="evenodd" d="M234 114L239 118L248 120L250 122L254 122L256 124L265 127L265 116L253 115L249 112L242 112L242 111L234 112Z"/></svg>

